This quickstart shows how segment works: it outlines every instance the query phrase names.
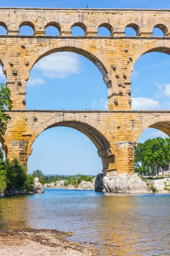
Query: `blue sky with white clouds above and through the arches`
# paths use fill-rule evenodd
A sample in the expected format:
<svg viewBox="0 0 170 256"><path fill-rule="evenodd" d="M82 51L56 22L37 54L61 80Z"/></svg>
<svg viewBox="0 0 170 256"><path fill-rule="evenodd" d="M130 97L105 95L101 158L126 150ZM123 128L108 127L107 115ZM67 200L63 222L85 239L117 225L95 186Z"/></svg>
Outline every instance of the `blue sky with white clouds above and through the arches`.
<svg viewBox="0 0 170 256"><path fill-rule="evenodd" d="M71 7L84 8L170 8L170 1L6 1L15 7ZM154 34L162 32L154 29ZM0 34L6 31L0 27ZM20 34L32 35L30 27L22 27ZM46 35L58 35L56 28L48 27ZM72 35L83 35L80 28L73 28ZM105 28L98 35L109 35ZM126 35L135 35L126 28ZM170 109L170 56L152 52L142 55L134 66L131 77L133 109ZM71 52L59 52L42 58L31 70L26 86L27 109L107 110L107 89L102 74L88 59ZM0 67L0 81L5 77ZM156 129L147 128L139 138L165 137ZM102 170L94 144L82 133L72 128L56 127L42 132L32 145L28 172L41 169L45 174L91 174Z"/></svg>

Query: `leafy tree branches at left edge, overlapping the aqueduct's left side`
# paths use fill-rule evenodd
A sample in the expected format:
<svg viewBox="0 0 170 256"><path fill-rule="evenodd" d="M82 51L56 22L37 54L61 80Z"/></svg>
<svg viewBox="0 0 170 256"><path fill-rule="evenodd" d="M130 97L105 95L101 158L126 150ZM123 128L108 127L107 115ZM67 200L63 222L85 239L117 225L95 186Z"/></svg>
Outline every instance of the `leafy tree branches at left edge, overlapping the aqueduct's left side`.
<svg viewBox="0 0 170 256"><path fill-rule="evenodd" d="M11 92L5 84L0 83L0 134L4 135L8 120L10 116L6 113L6 108L11 110L13 108L12 101L10 99Z"/></svg>

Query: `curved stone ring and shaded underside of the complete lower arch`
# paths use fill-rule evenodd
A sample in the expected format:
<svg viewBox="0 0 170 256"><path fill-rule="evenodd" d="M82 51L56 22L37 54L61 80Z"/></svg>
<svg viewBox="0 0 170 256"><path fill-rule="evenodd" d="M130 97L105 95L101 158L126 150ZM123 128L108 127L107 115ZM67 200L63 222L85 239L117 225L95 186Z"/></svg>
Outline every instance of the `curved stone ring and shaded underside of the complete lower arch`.
<svg viewBox="0 0 170 256"><path fill-rule="evenodd" d="M40 125L28 140L28 154L31 154L31 145L43 131L57 126L74 128L85 134L94 143L98 151L104 150L106 154L113 154L111 149L113 137L111 134L99 123L76 114L57 116Z"/></svg>

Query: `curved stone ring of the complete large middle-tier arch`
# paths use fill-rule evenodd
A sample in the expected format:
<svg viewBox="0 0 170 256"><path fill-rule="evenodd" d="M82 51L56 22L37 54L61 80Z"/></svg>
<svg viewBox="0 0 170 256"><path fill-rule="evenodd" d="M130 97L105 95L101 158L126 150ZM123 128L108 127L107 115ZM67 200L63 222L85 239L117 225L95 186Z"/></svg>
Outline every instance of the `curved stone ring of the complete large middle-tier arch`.
<svg viewBox="0 0 170 256"><path fill-rule="evenodd" d="M75 52L92 61L100 70L103 76L109 73L111 65L105 57L96 49L76 41L62 41L48 46L37 52L29 61L29 72L31 68L43 57L55 52Z"/></svg>

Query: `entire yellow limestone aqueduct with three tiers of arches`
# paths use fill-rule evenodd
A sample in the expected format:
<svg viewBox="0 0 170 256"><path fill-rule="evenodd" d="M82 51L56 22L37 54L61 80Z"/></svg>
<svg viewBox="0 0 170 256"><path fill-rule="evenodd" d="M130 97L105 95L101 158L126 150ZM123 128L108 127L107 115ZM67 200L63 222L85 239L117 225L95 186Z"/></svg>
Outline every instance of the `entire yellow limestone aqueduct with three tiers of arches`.
<svg viewBox="0 0 170 256"><path fill-rule="evenodd" d="M141 55L170 54L170 10L0 8L0 25L7 30L7 35L0 35L0 64L14 102L6 134L0 137L9 159L17 156L26 166L31 145L42 131L68 126L92 140L103 172L112 178L134 172L136 141L147 127L170 135L170 111L131 111L130 90L130 74ZM34 35L19 35L24 25L31 26ZM55 26L59 36L46 36L48 26ZM74 26L85 35L71 36ZM97 36L102 26L110 36ZM136 36L126 37L125 27L135 29ZM153 37L154 27L164 36ZM62 51L81 54L99 68L108 89L109 111L26 110L31 68L44 56Z"/></svg>

